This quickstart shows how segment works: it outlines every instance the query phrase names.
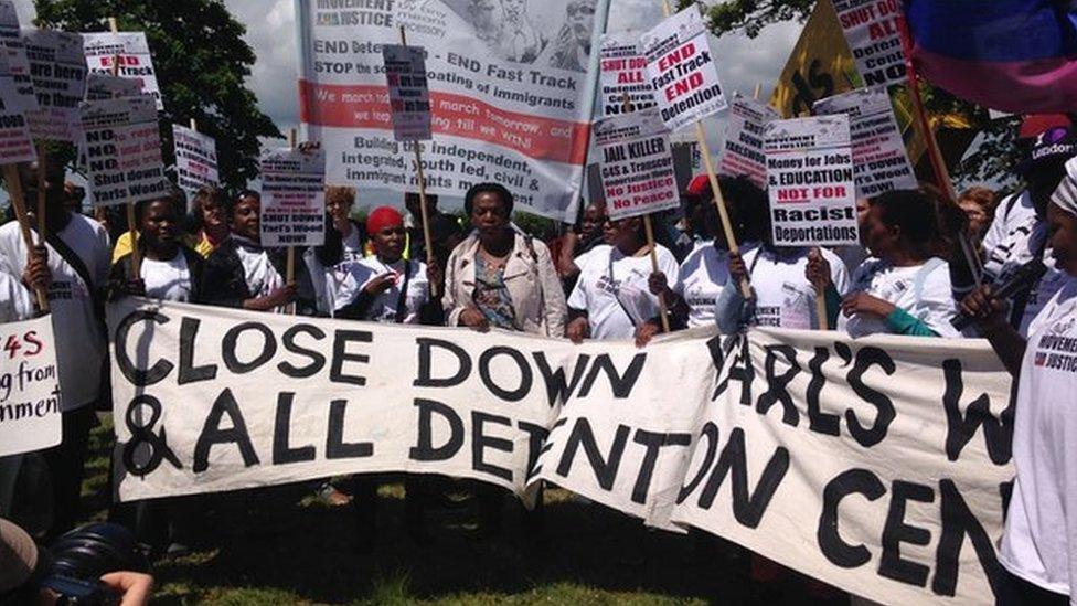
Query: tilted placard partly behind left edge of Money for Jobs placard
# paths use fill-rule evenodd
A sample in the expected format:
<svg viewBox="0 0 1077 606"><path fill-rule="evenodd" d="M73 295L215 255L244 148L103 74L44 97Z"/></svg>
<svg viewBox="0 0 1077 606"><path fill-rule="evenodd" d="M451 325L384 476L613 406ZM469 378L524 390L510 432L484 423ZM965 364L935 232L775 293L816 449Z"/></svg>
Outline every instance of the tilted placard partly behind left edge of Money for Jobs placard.
<svg viewBox="0 0 1077 606"><path fill-rule="evenodd" d="M735 94L718 172L729 177L747 177L759 189L766 189L767 160L763 152L763 138L767 124L778 117L769 105L749 99L740 93Z"/></svg>

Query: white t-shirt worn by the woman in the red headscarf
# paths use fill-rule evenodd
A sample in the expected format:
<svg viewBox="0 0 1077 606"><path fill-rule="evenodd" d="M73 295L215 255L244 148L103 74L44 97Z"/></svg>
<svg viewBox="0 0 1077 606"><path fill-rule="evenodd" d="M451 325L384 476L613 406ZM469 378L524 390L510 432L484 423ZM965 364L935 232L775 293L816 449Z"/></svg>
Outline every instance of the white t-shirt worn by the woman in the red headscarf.
<svg viewBox="0 0 1077 606"><path fill-rule="evenodd" d="M407 265L405 266L405 264ZM401 288L404 288L405 267L407 267L409 275L407 276L407 291L404 294L404 306L407 309L404 315L404 323L418 323L419 308L430 298L430 284L426 279L426 264L415 259L405 261L401 258L396 259L395 263L384 263L377 256L372 256L352 265L338 293L337 310L354 302L371 280L381 275L393 273L396 274L393 286L374 299L363 319L375 322L395 322L397 304L401 302Z"/></svg>

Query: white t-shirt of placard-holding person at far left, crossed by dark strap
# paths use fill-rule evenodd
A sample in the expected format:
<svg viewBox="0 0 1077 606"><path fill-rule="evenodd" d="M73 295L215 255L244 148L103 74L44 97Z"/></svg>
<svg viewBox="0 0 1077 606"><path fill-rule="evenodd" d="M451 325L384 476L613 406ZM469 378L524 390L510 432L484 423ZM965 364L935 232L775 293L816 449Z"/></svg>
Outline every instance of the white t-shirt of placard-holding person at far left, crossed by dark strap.
<svg viewBox="0 0 1077 606"><path fill-rule="evenodd" d="M73 213L67 225L56 235L78 255L94 283L84 283L60 253L46 243L49 272L52 274L49 309L56 336L60 389L64 393L61 407L74 411L92 404L100 395L100 369L108 355L108 348L94 315L90 288L104 288L111 255L105 227L81 214ZM12 221L0 226L0 270L21 276L25 267L26 247L19 223Z"/></svg>

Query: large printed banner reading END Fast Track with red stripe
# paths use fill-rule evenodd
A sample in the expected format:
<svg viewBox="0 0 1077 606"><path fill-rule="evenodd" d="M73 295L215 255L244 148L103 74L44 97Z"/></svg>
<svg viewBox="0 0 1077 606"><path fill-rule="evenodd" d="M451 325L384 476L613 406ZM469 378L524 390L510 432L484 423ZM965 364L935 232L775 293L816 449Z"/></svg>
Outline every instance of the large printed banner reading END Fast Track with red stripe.
<svg viewBox="0 0 1077 606"><path fill-rule="evenodd" d="M495 181L522 210L574 221L608 0L297 0L299 97L329 183L418 191L414 143L394 140L382 46L426 50L430 193Z"/></svg>

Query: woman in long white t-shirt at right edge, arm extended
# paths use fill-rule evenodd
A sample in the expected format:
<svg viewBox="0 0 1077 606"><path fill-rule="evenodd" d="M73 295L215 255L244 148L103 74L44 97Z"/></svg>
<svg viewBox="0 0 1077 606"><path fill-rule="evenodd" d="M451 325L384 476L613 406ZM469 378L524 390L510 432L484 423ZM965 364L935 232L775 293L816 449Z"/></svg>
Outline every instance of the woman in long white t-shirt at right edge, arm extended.
<svg viewBox="0 0 1077 606"><path fill-rule="evenodd" d="M1017 380L1016 480L1002 536L999 604L1064 605L1077 583L1077 158L1047 209L1055 267L1068 279L1028 328L1006 321L1006 302L981 287L961 302Z"/></svg>

